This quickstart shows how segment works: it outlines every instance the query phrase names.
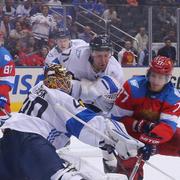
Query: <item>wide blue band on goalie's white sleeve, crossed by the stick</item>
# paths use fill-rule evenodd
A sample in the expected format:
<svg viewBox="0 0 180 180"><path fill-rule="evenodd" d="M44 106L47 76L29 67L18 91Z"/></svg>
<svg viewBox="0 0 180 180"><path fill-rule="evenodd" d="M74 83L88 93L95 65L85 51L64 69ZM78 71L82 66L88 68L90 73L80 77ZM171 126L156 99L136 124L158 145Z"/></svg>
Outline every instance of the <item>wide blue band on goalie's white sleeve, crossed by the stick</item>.
<svg viewBox="0 0 180 180"><path fill-rule="evenodd" d="M84 111L76 114L76 116L82 119L84 122L89 122L96 116L96 114L89 109L85 109ZM69 119L66 123L68 132L70 132L71 135L74 135L77 138L79 137L79 134L83 127L84 125L74 118Z"/></svg>

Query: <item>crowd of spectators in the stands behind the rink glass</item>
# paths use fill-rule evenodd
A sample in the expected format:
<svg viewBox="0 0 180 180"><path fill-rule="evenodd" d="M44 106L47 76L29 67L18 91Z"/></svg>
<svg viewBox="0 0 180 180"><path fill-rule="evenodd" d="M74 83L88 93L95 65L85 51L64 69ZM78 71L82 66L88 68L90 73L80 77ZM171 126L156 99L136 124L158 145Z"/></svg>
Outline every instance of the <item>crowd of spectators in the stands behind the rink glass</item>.
<svg viewBox="0 0 180 180"><path fill-rule="evenodd" d="M66 16L63 16L64 8L61 5L68 3L71 6L67 6ZM76 23L78 5L81 5L137 39L137 41L124 39L123 48L117 53L117 59L122 66L147 66L149 63L148 18L146 8L144 10L144 6L140 5L147 7L148 4L138 1L138 6L132 6L128 3L129 1L126 0L118 2L115 0L4 0L0 4L0 32L5 39L4 46L11 52L16 65L43 66L46 55L55 46L53 34L57 29L68 28L72 39L83 39L87 43L96 33L101 33L97 32L89 22L84 26ZM166 3L173 5L173 3L178 4L178 1L152 0L151 3L159 5L154 8L157 13L153 13L156 19L153 42L165 43L160 50L153 51L152 56L166 55L176 63L176 49L171 44L177 39L176 16L174 7L167 8ZM91 16L91 14L86 15ZM136 26L134 22L137 22Z"/></svg>

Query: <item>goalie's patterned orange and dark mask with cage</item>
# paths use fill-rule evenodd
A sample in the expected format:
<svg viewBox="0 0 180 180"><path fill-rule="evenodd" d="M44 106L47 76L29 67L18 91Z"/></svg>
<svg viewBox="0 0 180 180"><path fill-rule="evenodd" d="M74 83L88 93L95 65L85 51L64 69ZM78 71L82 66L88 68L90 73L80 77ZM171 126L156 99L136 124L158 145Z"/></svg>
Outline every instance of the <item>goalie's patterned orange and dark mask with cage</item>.
<svg viewBox="0 0 180 180"><path fill-rule="evenodd" d="M44 71L44 84L51 89L59 89L66 93L71 92L71 75L59 64L52 64Z"/></svg>

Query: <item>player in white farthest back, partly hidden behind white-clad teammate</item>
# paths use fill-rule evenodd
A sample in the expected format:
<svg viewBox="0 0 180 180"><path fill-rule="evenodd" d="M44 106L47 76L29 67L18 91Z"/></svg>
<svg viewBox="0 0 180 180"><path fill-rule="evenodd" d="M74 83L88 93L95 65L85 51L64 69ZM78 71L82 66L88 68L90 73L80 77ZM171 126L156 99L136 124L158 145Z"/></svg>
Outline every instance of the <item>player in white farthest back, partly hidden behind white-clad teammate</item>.
<svg viewBox="0 0 180 180"><path fill-rule="evenodd" d="M59 64L60 59L66 61L72 53L72 48L88 45L82 39L71 39L68 29L58 29L53 32L52 37L55 39L56 46L49 51L45 59L45 64Z"/></svg>

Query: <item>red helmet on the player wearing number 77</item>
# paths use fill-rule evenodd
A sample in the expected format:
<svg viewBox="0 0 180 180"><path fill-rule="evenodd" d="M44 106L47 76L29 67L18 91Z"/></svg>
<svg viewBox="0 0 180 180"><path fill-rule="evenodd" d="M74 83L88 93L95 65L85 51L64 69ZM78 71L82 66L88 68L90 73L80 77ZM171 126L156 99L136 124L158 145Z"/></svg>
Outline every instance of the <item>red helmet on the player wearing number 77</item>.
<svg viewBox="0 0 180 180"><path fill-rule="evenodd" d="M154 71L159 74L171 75L172 70L173 62L170 58L165 56L155 57L149 65L149 71Z"/></svg>

